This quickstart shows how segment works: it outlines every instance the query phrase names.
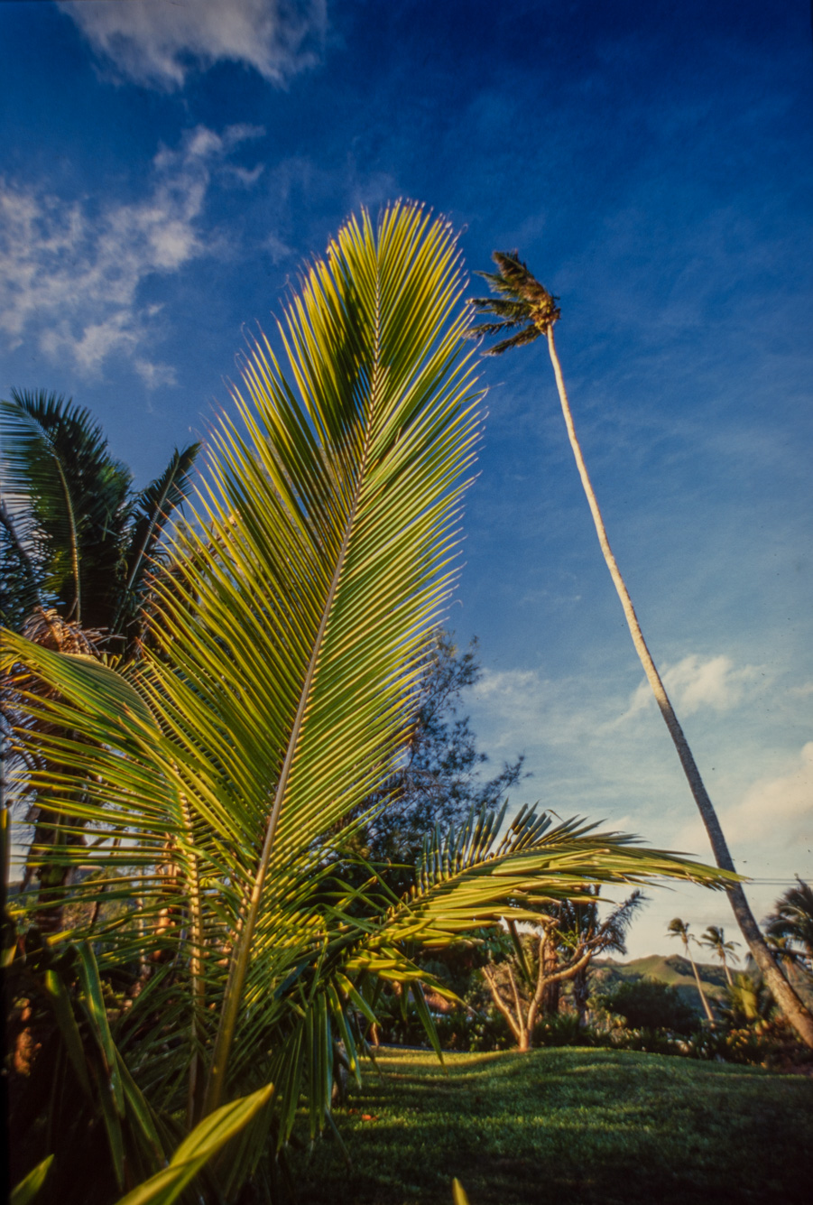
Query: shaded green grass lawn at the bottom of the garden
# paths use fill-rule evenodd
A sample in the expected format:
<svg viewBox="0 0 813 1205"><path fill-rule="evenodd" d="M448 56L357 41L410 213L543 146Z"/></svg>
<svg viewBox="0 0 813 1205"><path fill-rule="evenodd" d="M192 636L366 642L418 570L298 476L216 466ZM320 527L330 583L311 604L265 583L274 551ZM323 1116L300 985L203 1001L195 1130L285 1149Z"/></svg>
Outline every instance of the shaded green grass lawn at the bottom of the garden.
<svg viewBox="0 0 813 1205"><path fill-rule="evenodd" d="M813 1200L813 1080L631 1051L383 1053L317 1144L305 1205Z"/></svg>

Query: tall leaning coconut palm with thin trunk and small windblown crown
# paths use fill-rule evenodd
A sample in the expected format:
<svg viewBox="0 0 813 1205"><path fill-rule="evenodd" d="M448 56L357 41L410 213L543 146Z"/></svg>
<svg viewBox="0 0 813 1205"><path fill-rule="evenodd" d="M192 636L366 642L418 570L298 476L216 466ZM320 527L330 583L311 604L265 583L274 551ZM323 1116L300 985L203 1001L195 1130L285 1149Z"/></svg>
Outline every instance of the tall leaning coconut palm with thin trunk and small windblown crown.
<svg viewBox="0 0 813 1205"><path fill-rule="evenodd" d="M666 723L672 741L674 742L674 747L681 759L681 765L683 766L683 771L689 782L695 804L697 805L697 810L700 811L706 827L717 864L721 869L734 870L734 860L729 852L719 818L708 797L708 792L706 790L700 770L697 769L677 715L674 713L674 707L670 701L660 674L658 672L649 648L647 647L647 642L643 639L641 624L638 623L638 618L635 613L630 593L626 588L624 578L621 577L612 548L609 547L605 522L590 482L581 445L576 436L576 428L573 425L567 390L565 389L561 364L559 362L559 355L556 354L553 328L554 323L556 323L561 316L561 311L556 305L558 299L548 293L548 290L531 275L528 266L519 259L518 252L508 253L496 251L494 252L493 258L497 265L497 271L478 272L478 275L483 276L488 281L489 287L496 295L493 298L475 298L472 299L471 305L475 311L484 315L491 315L496 321L483 322L473 325L470 331L470 336L482 339L487 335L507 334L508 337L500 340L493 347L488 348L485 352L488 355L500 355L513 347L522 347L524 343L534 342L534 340L540 336L543 336L547 340L548 353L550 355L550 363L553 364L553 371L556 380L559 400L565 417L565 425L567 427L567 436L570 439L578 474L590 507L601 552L620 599L624 616L630 629L630 635L632 636L632 643L635 645L641 664L643 665L647 681L649 682L653 694L655 695L655 701L658 703L660 713L664 717L664 722ZM740 882L734 883L729 888L727 895L731 909L737 919L737 924L740 925L740 929L748 944L748 948L754 957L754 962L765 976L777 1004L788 1021L790 1021L794 1025L802 1041L807 1046L813 1047L813 1015L811 1015L811 1012L805 1007L799 995L794 992L793 987L774 962Z"/></svg>

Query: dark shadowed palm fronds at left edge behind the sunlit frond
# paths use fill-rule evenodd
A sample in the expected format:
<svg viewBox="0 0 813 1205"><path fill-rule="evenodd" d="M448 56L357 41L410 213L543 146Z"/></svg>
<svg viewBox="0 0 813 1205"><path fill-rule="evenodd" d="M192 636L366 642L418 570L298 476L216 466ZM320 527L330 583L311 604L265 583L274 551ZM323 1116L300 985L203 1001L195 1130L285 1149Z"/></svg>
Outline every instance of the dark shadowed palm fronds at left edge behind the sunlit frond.
<svg viewBox="0 0 813 1205"><path fill-rule="evenodd" d="M45 392L0 401L0 506L6 574L2 623L23 630L33 613L102 633L129 659L143 624L155 558L184 501L200 445L172 453L140 492L113 460L88 410Z"/></svg>

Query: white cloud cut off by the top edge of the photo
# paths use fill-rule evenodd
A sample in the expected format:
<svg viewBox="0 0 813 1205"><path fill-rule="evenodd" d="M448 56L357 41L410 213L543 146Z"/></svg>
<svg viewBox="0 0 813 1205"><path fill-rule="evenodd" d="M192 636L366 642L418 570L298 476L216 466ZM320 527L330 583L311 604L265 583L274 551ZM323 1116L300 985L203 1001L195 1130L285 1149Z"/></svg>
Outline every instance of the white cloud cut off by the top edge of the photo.
<svg viewBox="0 0 813 1205"><path fill-rule="evenodd" d="M181 88L190 65L254 67L273 83L317 61L326 0L67 0L94 51L142 84Z"/></svg>

